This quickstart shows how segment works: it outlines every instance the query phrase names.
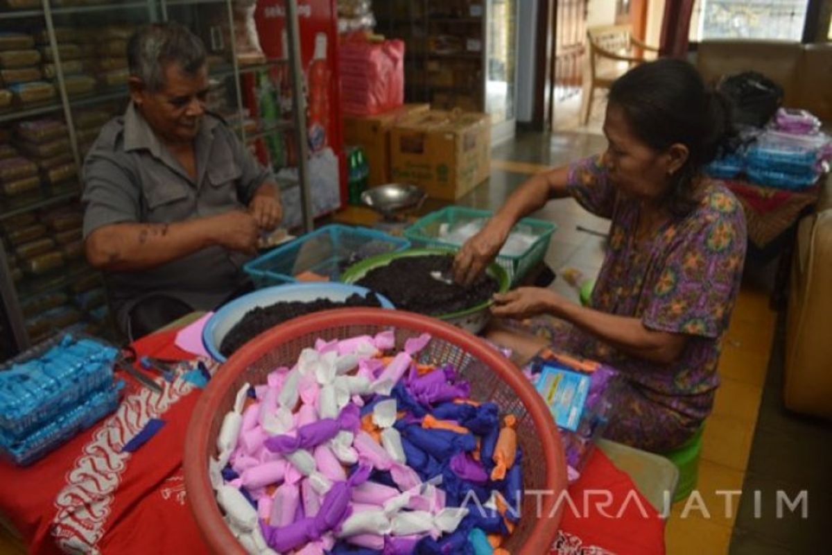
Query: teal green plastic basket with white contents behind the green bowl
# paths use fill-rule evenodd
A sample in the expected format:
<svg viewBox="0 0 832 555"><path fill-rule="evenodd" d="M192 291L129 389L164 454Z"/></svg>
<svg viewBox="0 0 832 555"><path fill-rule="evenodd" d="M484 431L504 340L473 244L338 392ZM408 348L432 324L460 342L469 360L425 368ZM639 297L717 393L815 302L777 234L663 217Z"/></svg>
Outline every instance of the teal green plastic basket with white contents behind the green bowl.
<svg viewBox="0 0 832 555"><path fill-rule="evenodd" d="M446 206L442 210L431 212L404 230L414 247L444 247L458 249L461 244L440 239L443 230L446 228L465 225L468 222L483 220L493 216L493 212L477 210L465 206ZM534 218L523 218L512 228L513 231L520 231L537 237L527 250L519 255L498 255L497 263L508 272L508 277L515 285L528 273L537 263L543 260L546 250L549 248L549 240L552 233L557 230L557 225L548 221L536 220Z"/></svg>

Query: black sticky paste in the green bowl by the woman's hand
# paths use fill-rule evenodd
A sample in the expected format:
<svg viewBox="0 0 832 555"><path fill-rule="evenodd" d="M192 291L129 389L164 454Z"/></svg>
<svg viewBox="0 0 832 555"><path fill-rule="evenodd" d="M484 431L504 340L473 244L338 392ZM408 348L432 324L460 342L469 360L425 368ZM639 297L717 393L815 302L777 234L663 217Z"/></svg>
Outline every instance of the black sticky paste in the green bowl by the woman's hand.
<svg viewBox="0 0 832 555"><path fill-rule="evenodd" d="M452 256L402 256L369 270L357 283L384 295L397 309L429 316L469 309L497 292L497 280L485 272L468 287L443 283L431 275L438 271L450 276L452 265Z"/></svg>

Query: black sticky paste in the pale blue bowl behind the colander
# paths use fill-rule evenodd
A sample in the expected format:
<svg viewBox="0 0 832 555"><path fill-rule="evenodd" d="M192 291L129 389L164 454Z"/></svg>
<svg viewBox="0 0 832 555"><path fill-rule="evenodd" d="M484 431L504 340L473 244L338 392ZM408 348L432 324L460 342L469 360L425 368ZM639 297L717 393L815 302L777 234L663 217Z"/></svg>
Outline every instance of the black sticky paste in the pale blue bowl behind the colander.
<svg viewBox="0 0 832 555"><path fill-rule="evenodd" d="M229 357L234 354L235 350L245 344L249 339L253 339L256 335L273 328L275 325L282 324L286 320L297 318L298 316L308 315L320 310L340 309L350 306L374 306L380 307L381 302L374 293L369 293L366 298L354 293L349 295L346 300L334 301L329 299L315 299L315 300L291 300L280 301L274 305L258 306L255 309L249 310L245 313L242 320L236 323L231 328L228 334L222 339L220 344L220 353L223 356Z"/></svg>

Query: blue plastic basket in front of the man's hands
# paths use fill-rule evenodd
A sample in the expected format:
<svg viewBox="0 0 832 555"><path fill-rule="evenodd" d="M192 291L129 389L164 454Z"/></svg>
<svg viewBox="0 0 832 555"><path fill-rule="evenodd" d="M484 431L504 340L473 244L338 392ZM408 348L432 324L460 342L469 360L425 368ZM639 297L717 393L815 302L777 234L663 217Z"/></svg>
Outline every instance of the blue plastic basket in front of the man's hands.
<svg viewBox="0 0 832 555"><path fill-rule="evenodd" d="M374 255L406 250L410 241L366 227L330 224L275 247L251 260L245 273L257 289L295 283L296 275L313 272L330 281L356 262Z"/></svg>

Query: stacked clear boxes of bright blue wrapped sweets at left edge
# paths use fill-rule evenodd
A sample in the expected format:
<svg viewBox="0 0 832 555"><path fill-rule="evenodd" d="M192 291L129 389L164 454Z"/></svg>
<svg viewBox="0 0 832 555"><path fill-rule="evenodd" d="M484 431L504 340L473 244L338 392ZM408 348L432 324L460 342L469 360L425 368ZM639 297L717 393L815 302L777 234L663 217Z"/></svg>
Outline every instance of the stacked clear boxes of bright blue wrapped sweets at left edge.
<svg viewBox="0 0 832 555"><path fill-rule="evenodd" d="M27 465L116 409L116 349L64 335L13 359L0 372L0 453Z"/></svg>

